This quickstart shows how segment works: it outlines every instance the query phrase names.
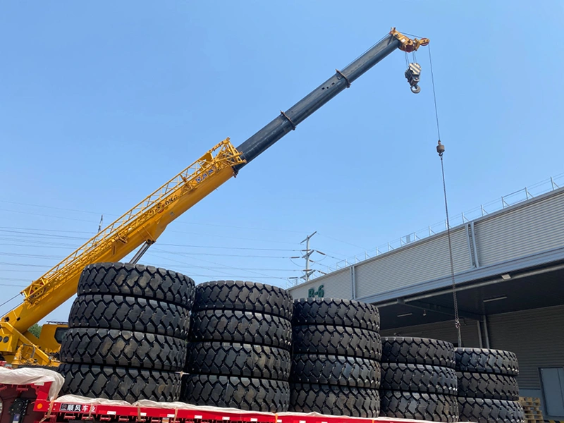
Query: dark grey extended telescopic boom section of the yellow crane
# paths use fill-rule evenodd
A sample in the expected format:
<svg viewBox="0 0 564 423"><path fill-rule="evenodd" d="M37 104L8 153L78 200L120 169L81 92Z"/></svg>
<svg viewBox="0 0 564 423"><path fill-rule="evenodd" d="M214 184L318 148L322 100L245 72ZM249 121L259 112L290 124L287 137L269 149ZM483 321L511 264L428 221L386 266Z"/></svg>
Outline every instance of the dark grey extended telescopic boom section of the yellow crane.
<svg viewBox="0 0 564 423"><path fill-rule="evenodd" d="M380 42L374 44L374 47L353 61L353 63L350 63L349 66L341 71L336 71L335 75L331 76L329 80L319 85L319 87L307 94L306 97L290 107L286 112L282 111L273 121L237 147L238 152L245 159L245 163L235 166L235 171L243 168L243 166L258 157L259 154L280 140L290 130L294 130L299 123L305 121L305 118L313 114L314 111L326 104L326 102L329 102L339 92L349 87L351 82L400 46L401 42L399 39L393 37L393 35L387 35Z"/></svg>

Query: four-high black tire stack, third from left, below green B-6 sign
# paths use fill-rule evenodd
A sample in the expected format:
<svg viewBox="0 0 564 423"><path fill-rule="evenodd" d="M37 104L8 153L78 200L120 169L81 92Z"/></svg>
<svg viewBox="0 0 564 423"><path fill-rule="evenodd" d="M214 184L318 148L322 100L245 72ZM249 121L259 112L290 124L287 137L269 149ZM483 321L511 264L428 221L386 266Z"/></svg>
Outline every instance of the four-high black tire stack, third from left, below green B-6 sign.
<svg viewBox="0 0 564 423"><path fill-rule="evenodd" d="M378 417L380 315L353 300L294 302L290 410Z"/></svg>

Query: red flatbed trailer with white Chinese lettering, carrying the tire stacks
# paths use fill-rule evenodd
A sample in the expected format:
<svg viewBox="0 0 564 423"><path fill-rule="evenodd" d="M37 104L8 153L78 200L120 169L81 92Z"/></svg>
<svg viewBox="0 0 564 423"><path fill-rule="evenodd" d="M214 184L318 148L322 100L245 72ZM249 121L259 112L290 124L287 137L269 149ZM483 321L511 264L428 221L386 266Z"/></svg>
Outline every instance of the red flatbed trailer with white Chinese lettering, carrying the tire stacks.
<svg viewBox="0 0 564 423"><path fill-rule="evenodd" d="M255 412L234 408L200 407L185 403L139 401L128 404L102 398L57 397L55 381L3 383L0 374L0 423L422 423L423 420L321 415L297 412Z"/></svg>

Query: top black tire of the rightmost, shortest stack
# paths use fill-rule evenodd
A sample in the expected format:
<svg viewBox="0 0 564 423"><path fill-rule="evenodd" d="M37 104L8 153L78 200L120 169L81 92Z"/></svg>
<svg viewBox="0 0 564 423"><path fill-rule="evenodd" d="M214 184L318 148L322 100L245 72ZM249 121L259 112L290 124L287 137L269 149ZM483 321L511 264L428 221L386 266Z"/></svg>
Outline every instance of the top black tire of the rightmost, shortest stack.
<svg viewBox="0 0 564 423"><path fill-rule="evenodd" d="M494 373L507 376L519 375L517 355L510 351L486 350L485 348L456 348L458 372Z"/></svg>

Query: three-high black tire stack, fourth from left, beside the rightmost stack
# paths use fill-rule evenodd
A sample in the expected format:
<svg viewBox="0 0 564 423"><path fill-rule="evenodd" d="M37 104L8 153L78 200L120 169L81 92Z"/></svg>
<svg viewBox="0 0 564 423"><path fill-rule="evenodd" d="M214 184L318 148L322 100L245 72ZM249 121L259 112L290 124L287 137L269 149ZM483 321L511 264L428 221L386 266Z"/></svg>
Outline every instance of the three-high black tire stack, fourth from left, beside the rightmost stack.
<svg viewBox="0 0 564 423"><path fill-rule="evenodd" d="M454 345L382 338L381 417L458 422Z"/></svg>

